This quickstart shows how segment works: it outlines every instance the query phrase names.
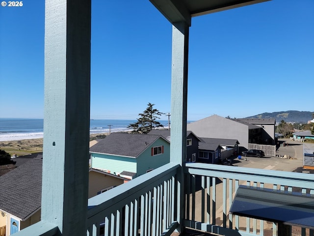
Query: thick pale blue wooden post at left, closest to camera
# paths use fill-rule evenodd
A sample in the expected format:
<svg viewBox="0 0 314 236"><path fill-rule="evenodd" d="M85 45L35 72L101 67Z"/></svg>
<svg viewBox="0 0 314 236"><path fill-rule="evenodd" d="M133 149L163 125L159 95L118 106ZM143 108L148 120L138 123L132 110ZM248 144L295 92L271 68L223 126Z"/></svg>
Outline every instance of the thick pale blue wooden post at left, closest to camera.
<svg viewBox="0 0 314 236"><path fill-rule="evenodd" d="M46 0L43 221L86 235L91 0Z"/></svg>

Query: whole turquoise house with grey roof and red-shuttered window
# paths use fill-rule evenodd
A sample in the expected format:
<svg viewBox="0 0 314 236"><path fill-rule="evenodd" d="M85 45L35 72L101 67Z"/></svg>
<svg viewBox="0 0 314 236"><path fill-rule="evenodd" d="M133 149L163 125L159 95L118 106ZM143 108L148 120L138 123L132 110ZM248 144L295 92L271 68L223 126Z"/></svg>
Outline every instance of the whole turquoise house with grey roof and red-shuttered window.
<svg viewBox="0 0 314 236"><path fill-rule="evenodd" d="M129 179L170 162L170 143L161 135L111 133L89 152L93 169Z"/></svg>

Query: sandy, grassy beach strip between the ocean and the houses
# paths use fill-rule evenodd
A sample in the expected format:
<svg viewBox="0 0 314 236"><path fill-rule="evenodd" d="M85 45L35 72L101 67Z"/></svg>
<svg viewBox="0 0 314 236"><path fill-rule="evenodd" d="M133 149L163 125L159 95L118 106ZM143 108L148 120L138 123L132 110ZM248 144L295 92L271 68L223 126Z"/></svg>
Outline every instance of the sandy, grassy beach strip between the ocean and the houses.
<svg viewBox="0 0 314 236"><path fill-rule="evenodd" d="M109 135L109 133L91 134L90 140L102 139L107 135ZM2 141L0 142L0 149L5 150L11 155L16 154L17 156L24 156L28 155L29 153L42 152L43 138Z"/></svg>

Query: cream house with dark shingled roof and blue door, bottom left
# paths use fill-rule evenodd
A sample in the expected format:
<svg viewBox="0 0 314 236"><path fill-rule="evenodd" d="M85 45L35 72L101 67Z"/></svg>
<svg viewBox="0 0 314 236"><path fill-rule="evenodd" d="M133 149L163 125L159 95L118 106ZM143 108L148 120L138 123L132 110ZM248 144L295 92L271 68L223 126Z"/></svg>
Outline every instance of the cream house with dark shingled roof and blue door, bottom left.
<svg viewBox="0 0 314 236"><path fill-rule="evenodd" d="M42 162L32 158L0 176L0 227L6 226L6 236L40 221Z"/></svg>

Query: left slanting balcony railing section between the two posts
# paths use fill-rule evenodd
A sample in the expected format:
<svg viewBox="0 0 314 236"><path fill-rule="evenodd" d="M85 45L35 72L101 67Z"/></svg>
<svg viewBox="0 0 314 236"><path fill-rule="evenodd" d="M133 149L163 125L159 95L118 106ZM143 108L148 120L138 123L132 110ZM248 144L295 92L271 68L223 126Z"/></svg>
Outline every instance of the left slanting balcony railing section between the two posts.
<svg viewBox="0 0 314 236"><path fill-rule="evenodd" d="M175 178L179 167L179 164L166 164L88 199L88 234L95 235L100 231L100 225L105 225L105 231L111 231L111 234L124 230L130 231L130 235L139 229L142 233L150 231L151 226L148 225L155 225L152 235L173 228L176 223L173 208L176 202ZM122 218L123 214L126 217Z"/></svg>

